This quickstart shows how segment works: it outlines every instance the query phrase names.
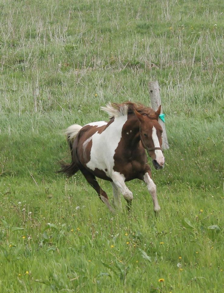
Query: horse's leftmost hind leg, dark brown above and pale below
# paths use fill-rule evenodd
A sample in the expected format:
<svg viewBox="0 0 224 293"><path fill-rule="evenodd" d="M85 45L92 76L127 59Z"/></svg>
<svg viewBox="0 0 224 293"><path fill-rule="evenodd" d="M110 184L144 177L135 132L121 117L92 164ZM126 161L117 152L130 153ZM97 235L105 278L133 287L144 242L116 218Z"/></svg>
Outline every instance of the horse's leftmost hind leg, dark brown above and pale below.
<svg viewBox="0 0 224 293"><path fill-rule="evenodd" d="M107 205L110 212L115 213L114 208L112 208L110 205L110 202L109 202L109 199L108 199L106 192L100 187L100 185L96 181L96 177L84 168L80 168L80 170L81 170L82 174L85 176L86 180L89 182L89 184L96 190L101 201L103 201Z"/></svg>

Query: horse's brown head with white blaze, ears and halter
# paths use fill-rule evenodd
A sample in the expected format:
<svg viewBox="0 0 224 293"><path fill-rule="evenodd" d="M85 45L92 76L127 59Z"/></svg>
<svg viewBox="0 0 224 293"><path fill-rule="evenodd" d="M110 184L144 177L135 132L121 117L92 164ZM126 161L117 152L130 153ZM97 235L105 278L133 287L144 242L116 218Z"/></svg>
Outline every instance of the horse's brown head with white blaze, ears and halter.
<svg viewBox="0 0 224 293"><path fill-rule="evenodd" d="M140 121L140 139L142 146L148 151L156 170L162 169L165 158L162 151L162 127L158 122L161 106L155 112L154 117L142 115L135 110L135 115Z"/></svg>

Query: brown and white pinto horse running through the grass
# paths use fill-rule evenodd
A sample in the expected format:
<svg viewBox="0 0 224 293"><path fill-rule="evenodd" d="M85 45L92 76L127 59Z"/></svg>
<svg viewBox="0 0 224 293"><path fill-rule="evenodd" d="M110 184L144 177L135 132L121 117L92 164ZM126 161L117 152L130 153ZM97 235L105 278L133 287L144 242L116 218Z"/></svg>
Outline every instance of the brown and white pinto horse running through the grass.
<svg viewBox="0 0 224 293"><path fill-rule="evenodd" d="M141 179L147 184L152 196L154 211L158 212L160 206L156 197L156 185L152 181L145 150L152 158L156 170L162 169L165 158L162 151L162 128L158 122L161 106L154 111L141 104L126 102L108 104L107 107L101 107L101 110L109 114L109 122L98 121L83 127L76 124L68 127L65 134L72 162L61 162L62 168L58 172L72 176L80 170L111 212L115 210L96 177L111 182L114 207L121 208L122 194L128 203L128 209L133 195L125 182Z"/></svg>

